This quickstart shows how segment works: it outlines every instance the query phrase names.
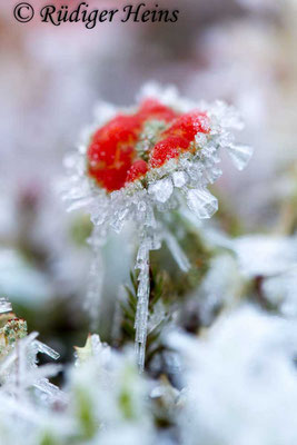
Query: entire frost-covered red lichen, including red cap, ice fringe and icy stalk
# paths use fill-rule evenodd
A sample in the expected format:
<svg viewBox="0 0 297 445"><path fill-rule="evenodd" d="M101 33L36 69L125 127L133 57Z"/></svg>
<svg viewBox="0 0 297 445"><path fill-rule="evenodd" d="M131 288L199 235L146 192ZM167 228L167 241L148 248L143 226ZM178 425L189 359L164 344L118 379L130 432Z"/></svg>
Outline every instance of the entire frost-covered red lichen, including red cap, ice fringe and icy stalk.
<svg viewBox="0 0 297 445"><path fill-rule="evenodd" d="M234 108L224 102L196 103L180 98L175 88L162 90L154 85L143 88L139 101L138 108L119 111L106 103L98 107L97 121L85 132L78 151L66 160L69 180L63 198L69 209L83 207L90 212L96 253L110 228L119 233L127 220L136 226L136 343L139 366L143 368L149 253L166 241L181 270L189 268L160 215L170 215L184 200L197 218L210 218L218 202L207 186L221 175L217 166L221 149L229 152L240 170L251 150L236 145L232 131L242 125ZM95 264L96 260L88 301L96 316L102 276L96 277L100 271Z"/></svg>

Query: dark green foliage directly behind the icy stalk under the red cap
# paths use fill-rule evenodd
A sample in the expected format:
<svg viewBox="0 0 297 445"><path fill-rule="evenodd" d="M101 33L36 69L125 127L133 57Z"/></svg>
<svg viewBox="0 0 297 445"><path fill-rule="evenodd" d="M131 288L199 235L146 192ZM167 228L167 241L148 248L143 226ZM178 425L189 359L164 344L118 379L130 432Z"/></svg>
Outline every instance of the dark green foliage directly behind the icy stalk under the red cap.
<svg viewBox="0 0 297 445"><path fill-rule="evenodd" d="M209 267L212 256L196 227L179 212L174 212L166 221L172 236L178 239L181 249L190 261L190 269L185 273L179 269L176 260L164 243L159 250L150 253L150 295L149 295L149 332L146 346L146 367L157 354L162 354L167 347L160 339L164 327L170 323L172 313L184 305L187 295L197 288ZM121 324L117 346L135 339L135 319L137 313L137 274L130 274L130 286L126 286L126 298L120 303ZM151 320L161 310L159 323L152 326ZM155 317L154 317L155 316Z"/></svg>

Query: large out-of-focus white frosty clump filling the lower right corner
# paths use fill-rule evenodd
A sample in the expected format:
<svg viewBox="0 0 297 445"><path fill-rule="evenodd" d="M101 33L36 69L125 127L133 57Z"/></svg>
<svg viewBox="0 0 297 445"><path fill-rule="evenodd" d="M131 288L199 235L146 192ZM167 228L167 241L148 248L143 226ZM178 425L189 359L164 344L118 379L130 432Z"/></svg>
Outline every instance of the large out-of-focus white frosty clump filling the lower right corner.
<svg viewBox="0 0 297 445"><path fill-rule="evenodd" d="M246 306L200 338L172 334L170 345L184 357L182 444L295 444L295 322Z"/></svg>

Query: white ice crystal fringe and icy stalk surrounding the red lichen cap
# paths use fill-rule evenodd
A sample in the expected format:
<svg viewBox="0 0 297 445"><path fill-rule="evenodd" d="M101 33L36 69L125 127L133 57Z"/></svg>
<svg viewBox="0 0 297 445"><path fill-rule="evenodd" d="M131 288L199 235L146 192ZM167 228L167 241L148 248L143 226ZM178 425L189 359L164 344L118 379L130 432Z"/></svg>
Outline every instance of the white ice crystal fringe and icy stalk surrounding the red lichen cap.
<svg viewBox="0 0 297 445"><path fill-rule="evenodd" d="M69 178L62 189L62 197L70 208L82 207L91 215L95 233L91 245L95 246L95 259L90 273L90 290L86 306L96 320L102 288L102 268L100 246L106 241L110 228L120 233L126 221L136 226L139 240L139 255L136 268L139 269L138 312L136 319L136 343L139 350L139 364L143 366L146 330L148 323L149 298L149 250L159 248L166 240L182 270L188 270L189 263L178 244L170 237L165 239L170 222L170 211L178 210L182 200L189 210L199 219L210 218L218 208L217 199L208 191L207 186L214 184L221 175L218 167L220 151L229 151L237 168L241 169L250 157L251 151L237 147L234 130L242 128L236 110L224 102L212 105L197 103L179 97L176 88L161 89L156 85L145 87L141 99L156 97L161 103L172 107L178 112L200 109L206 112L204 126L207 134L197 131L191 150L178 158L169 159L159 168L150 169L145 180L136 180L110 194L98 187L88 176L86 152L93 131L113 117L119 110L103 103L102 110L97 109L97 121L85 131L79 150L68 158ZM136 108L120 110L135 112ZM152 130L154 126L150 126ZM151 131L143 131L139 149L151 146ZM147 140L146 140L147 138ZM167 214L160 218L161 212ZM99 241L98 241L99 240ZM141 257L143 256L143 259Z"/></svg>

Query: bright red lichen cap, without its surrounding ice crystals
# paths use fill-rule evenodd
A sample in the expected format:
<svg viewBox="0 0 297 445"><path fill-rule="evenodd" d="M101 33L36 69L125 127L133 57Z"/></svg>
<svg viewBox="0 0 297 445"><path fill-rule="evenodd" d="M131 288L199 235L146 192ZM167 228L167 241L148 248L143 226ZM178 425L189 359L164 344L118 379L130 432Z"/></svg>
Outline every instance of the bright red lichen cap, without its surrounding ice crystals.
<svg viewBox="0 0 297 445"><path fill-rule="evenodd" d="M164 121L167 129L158 135L147 164L136 146L145 123L152 119ZM209 132L205 112L179 115L157 99L146 99L133 115L118 115L93 134L87 151L88 174L107 191L119 190L189 150L197 132Z"/></svg>

